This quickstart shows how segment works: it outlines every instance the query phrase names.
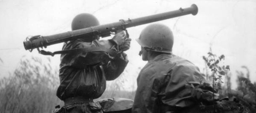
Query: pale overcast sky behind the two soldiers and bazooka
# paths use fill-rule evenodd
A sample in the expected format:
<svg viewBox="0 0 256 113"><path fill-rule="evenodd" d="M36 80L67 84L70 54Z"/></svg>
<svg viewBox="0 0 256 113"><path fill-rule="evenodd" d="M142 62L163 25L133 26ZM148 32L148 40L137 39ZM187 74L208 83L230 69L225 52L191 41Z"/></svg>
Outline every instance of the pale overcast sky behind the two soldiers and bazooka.
<svg viewBox="0 0 256 113"><path fill-rule="evenodd" d="M251 81L256 81L256 1L255 0L0 0L0 78L8 77L20 58L39 55L36 50L29 52L23 47L27 36L53 35L71 30L73 17L90 13L100 24L117 22L137 17L177 10L180 7L198 6L198 14L191 14L162 20L174 34L173 53L192 61L204 72L202 56L209 48L216 55L225 55L223 65L230 65L231 80L236 86L236 70L250 70ZM135 41L140 32L148 26L128 28L132 39L131 48L126 52L129 64L125 83L136 86L139 68L147 62L138 55L140 45ZM103 38L105 40L107 38ZM61 50L62 43L48 46L46 50ZM58 68L60 56L51 58Z"/></svg>

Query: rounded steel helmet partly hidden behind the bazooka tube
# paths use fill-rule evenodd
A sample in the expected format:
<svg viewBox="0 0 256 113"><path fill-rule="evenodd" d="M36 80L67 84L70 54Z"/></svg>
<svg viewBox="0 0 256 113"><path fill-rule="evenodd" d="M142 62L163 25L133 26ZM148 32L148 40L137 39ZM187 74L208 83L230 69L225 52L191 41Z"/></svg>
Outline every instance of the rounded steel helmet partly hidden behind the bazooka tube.
<svg viewBox="0 0 256 113"><path fill-rule="evenodd" d="M92 14L78 14L72 21L72 30L84 29L91 26L99 26L99 21Z"/></svg>

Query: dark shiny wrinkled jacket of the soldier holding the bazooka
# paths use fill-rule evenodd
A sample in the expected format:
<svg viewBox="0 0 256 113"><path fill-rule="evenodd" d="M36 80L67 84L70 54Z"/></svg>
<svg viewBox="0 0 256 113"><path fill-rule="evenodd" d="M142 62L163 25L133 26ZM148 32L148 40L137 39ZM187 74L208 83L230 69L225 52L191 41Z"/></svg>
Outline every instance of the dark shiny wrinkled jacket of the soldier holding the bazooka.
<svg viewBox="0 0 256 113"><path fill-rule="evenodd" d="M111 41L94 40L92 43L81 40L64 44L62 50L77 48L106 48L118 52ZM99 98L106 89L106 80L114 80L125 69L128 60L125 53L112 56L108 52L69 52L61 54L59 70L59 99L70 97Z"/></svg>

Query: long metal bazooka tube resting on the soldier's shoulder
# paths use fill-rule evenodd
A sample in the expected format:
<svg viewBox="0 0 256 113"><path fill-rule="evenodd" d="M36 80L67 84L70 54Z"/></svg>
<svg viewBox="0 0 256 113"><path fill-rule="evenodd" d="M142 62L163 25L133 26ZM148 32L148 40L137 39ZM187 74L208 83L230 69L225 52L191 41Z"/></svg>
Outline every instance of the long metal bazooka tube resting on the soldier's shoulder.
<svg viewBox="0 0 256 113"><path fill-rule="evenodd" d="M173 17L179 17L187 14L196 15L198 13L198 7L195 4L192 4L189 8L178 9L171 12L165 12L160 14L154 14L146 17L140 17L135 19L128 20L119 20L119 22L109 23L105 25L92 26L84 29L73 30L69 32L63 32L55 35L49 36L33 36L26 38L26 41L23 42L26 50L32 51L32 49L39 47L47 47L52 44L72 41L78 38L84 38L87 35L97 37L108 37L111 33L117 33L119 31L126 30L126 28L139 26L146 23L152 23L160 20L166 20ZM39 50L39 49L38 49Z"/></svg>

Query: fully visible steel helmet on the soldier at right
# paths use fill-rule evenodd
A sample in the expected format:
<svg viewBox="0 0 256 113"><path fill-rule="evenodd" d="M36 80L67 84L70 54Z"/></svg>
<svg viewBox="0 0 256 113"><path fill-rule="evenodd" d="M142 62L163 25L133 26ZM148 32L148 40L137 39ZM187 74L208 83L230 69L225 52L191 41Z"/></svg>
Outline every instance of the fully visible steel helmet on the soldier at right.
<svg viewBox="0 0 256 113"><path fill-rule="evenodd" d="M172 53L173 34L168 26L154 23L140 33L136 41L150 51Z"/></svg>

